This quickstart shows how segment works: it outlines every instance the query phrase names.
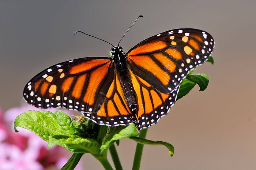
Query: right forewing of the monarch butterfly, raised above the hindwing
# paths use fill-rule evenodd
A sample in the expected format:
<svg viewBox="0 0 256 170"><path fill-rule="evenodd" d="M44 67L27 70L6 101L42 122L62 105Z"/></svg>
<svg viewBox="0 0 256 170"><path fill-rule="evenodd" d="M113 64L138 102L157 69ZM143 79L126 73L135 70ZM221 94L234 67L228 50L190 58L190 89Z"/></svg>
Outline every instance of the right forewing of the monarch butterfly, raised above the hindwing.
<svg viewBox="0 0 256 170"><path fill-rule="evenodd" d="M164 94L173 92L212 53L212 36L198 29L174 29L150 37L127 52L132 71Z"/></svg>

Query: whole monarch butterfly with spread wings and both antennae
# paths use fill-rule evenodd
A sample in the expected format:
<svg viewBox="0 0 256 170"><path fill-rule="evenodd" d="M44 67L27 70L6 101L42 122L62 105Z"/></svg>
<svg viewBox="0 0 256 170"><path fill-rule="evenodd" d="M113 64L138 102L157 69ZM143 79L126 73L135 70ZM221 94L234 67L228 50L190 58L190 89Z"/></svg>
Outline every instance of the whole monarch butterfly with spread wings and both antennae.
<svg viewBox="0 0 256 170"><path fill-rule="evenodd" d="M119 43L111 44L110 58L80 58L47 68L26 84L24 99L38 108L80 111L100 125L148 128L167 114L181 81L209 58L215 44L209 33L191 28L159 33L127 53Z"/></svg>

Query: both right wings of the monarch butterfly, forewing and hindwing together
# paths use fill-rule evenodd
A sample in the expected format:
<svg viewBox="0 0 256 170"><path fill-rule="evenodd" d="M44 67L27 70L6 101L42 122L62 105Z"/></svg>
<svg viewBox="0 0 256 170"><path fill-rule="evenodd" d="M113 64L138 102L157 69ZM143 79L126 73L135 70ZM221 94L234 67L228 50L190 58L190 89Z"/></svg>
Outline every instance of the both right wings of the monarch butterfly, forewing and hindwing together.
<svg viewBox="0 0 256 170"><path fill-rule="evenodd" d="M150 37L127 52L138 99L138 128L166 115L176 102L180 83L203 64L214 48L212 36L198 29L174 29Z"/></svg>

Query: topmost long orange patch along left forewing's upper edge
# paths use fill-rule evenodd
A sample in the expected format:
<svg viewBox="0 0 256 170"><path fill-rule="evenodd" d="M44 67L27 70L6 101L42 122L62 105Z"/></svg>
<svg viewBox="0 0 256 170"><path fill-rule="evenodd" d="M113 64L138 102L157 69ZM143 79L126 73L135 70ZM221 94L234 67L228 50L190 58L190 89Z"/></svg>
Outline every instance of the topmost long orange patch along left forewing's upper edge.
<svg viewBox="0 0 256 170"><path fill-rule="evenodd" d="M102 65L104 63L107 63L107 62L109 62L109 59L90 60L90 61L78 64L76 66L73 66L70 69L69 73L70 74L78 74L80 72L88 71L91 68L100 66L100 65Z"/></svg>

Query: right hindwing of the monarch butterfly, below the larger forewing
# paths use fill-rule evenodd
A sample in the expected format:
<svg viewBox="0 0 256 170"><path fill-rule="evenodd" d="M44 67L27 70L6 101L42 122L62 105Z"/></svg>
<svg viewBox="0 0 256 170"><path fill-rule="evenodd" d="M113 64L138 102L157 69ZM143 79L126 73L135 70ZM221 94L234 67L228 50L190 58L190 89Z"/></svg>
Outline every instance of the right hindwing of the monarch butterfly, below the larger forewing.
<svg viewBox="0 0 256 170"><path fill-rule="evenodd" d="M163 94L132 71L130 73L137 96L137 127L141 130L157 123L168 113L176 101L179 86L170 94Z"/></svg>

